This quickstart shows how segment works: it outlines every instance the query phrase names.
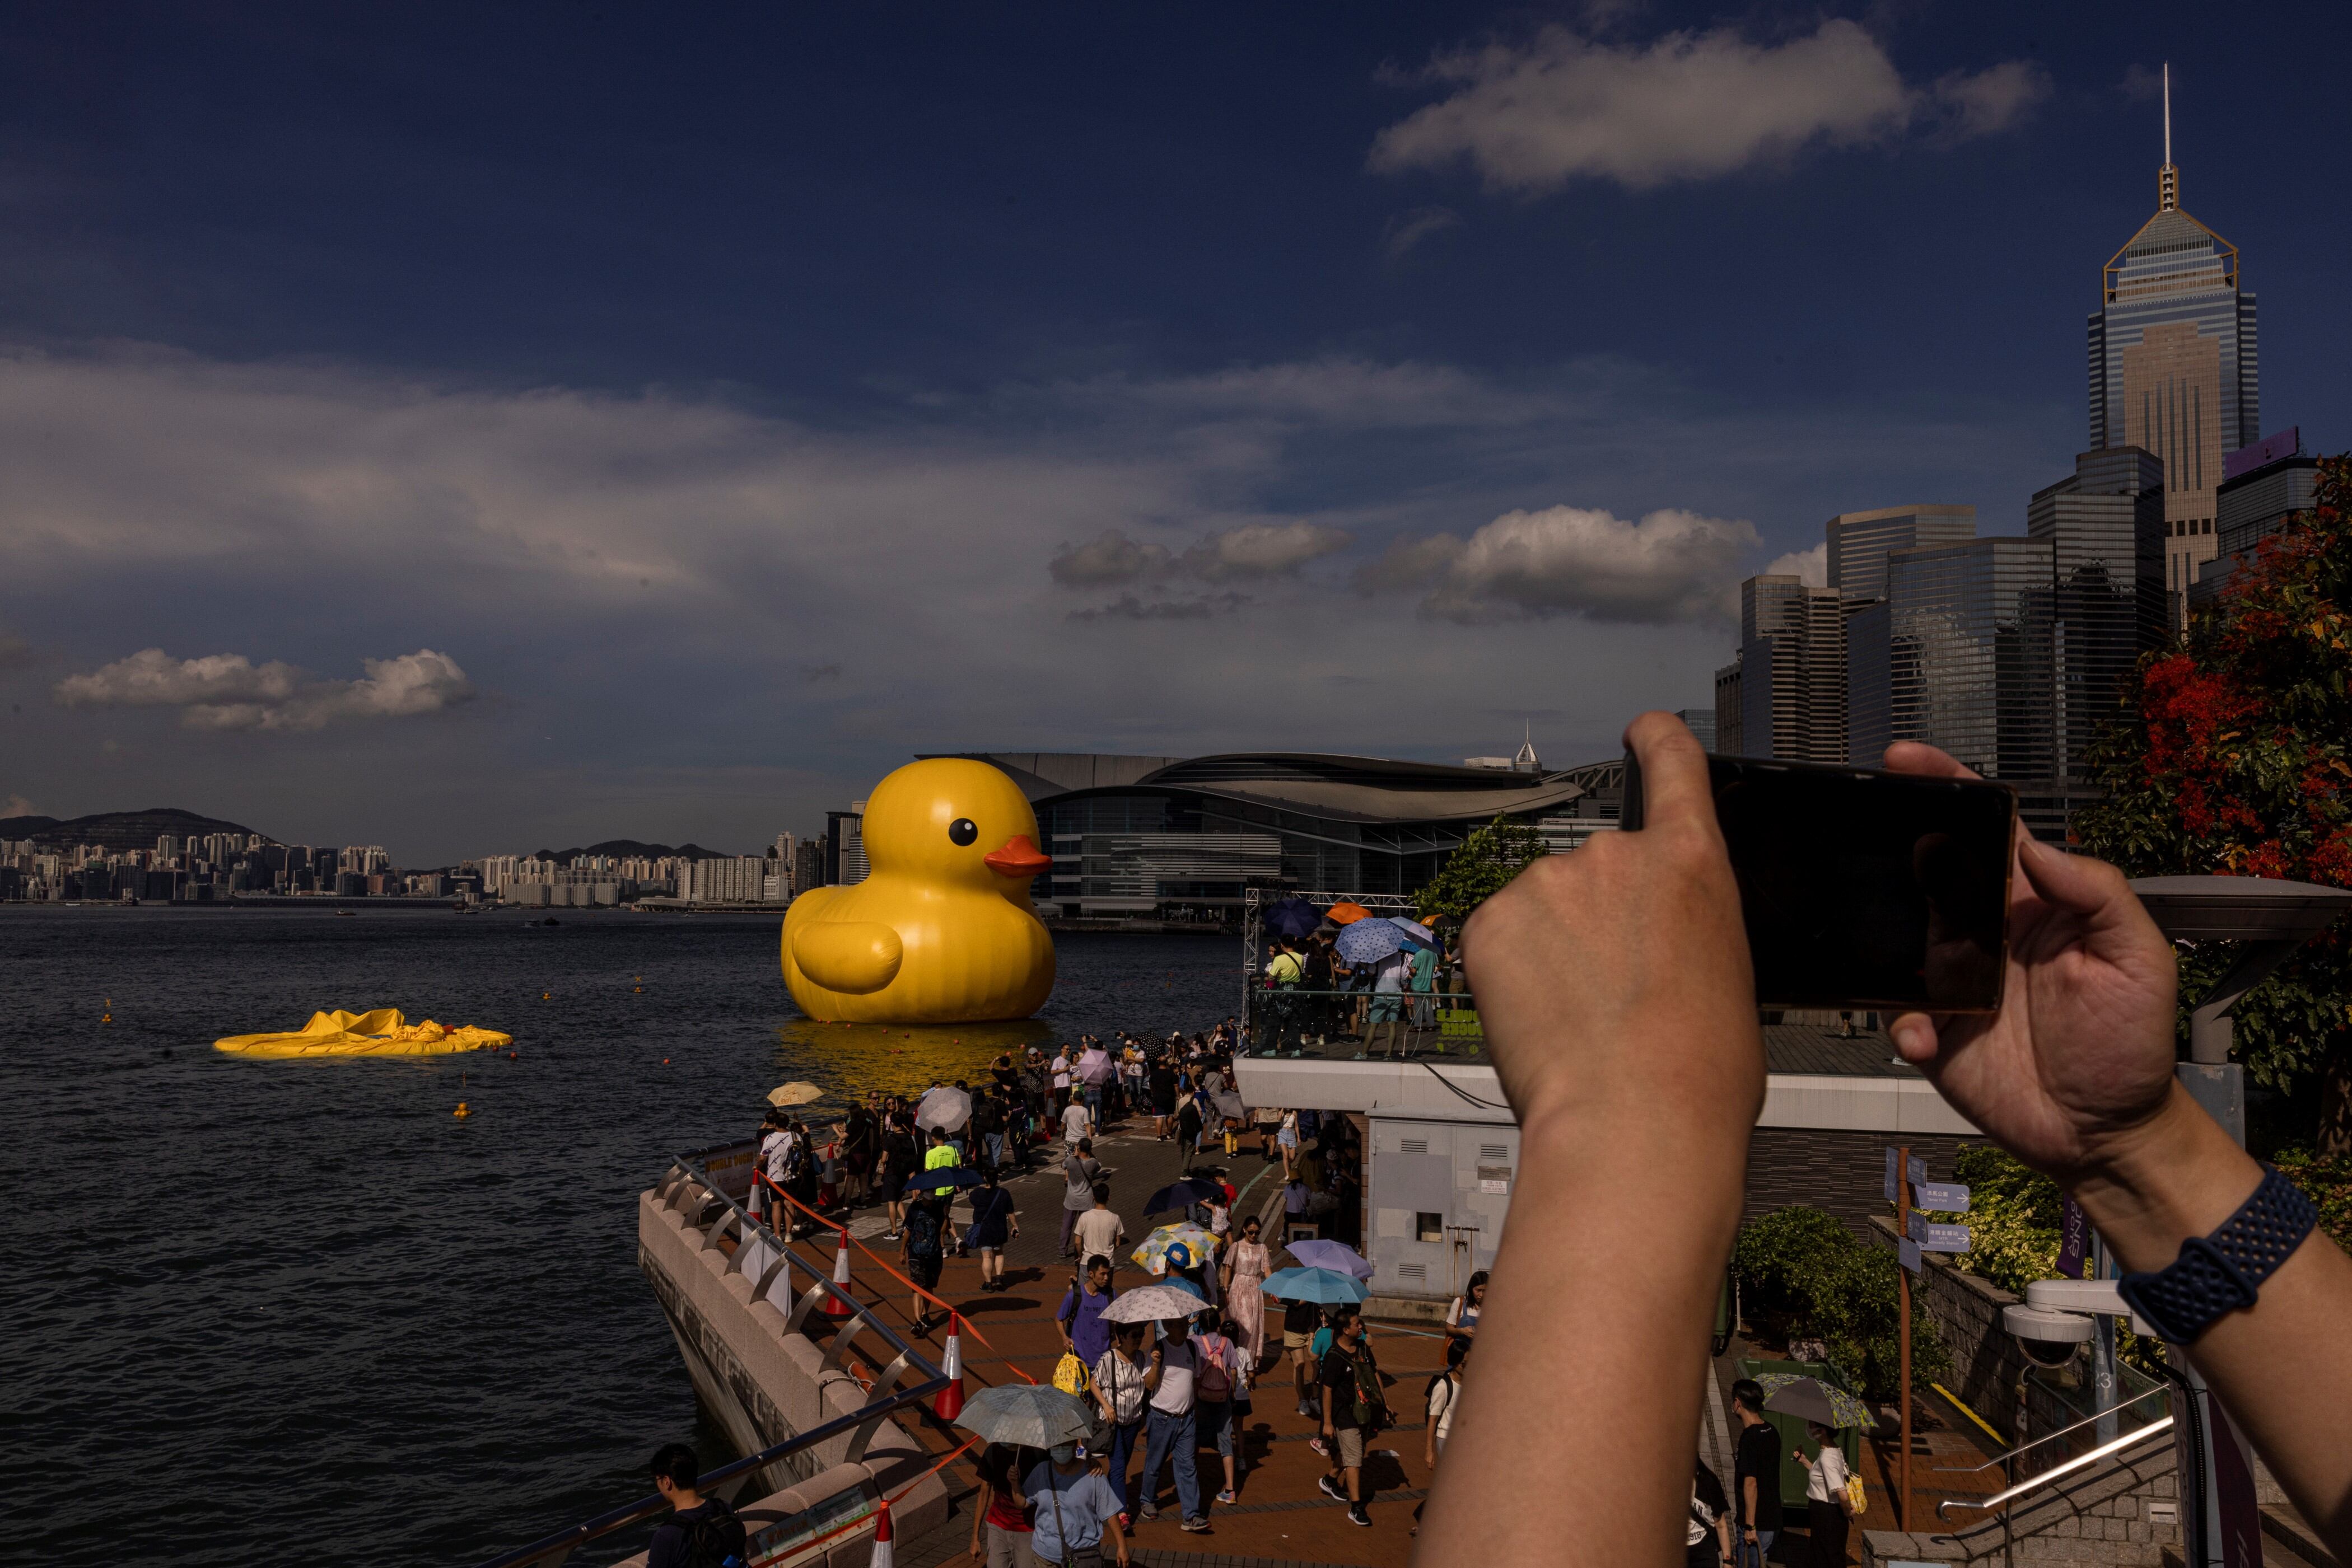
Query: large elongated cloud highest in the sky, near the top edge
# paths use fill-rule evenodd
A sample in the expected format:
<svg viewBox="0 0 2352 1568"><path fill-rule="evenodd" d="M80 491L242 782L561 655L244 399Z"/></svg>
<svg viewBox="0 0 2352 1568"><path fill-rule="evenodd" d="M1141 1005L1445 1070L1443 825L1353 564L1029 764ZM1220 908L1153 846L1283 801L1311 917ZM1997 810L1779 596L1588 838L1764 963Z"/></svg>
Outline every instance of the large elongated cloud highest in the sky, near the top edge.
<svg viewBox="0 0 2352 1568"><path fill-rule="evenodd" d="M1371 167L1468 160L1489 188L1529 193L1573 179L1632 190L1715 179L1813 143L1889 143L1922 125L1983 136L2049 92L2027 61L1912 87L1886 49L1844 19L1780 45L1733 28L1606 45L1548 26L1524 45L1439 54L1425 75L1449 96L1383 129Z"/></svg>

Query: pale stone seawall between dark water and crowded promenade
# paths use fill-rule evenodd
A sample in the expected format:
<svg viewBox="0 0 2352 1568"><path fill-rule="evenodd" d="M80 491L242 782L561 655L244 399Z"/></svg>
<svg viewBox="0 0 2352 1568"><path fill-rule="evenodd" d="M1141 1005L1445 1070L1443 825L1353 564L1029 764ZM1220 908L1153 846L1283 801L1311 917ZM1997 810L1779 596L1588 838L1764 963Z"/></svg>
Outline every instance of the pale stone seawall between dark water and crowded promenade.
<svg viewBox="0 0 2352 1568"><path fill-rule="evenodd" d="M654 1192L637 1197L637 1267L661 1302L694 1392L727 1427L729 1439L743 1453L755 1453L858 1410L866 1403L863 1385L826 1368L821 1345L802 1333L786 1333L786 1314L769 1300L753 1300L753 1281L731 1272L727 1253L703 1239L694 1225L701 1192L687 1185L677 1201L684 1211ZM739 1509L755 1530L755 1559L760 1533L771 1537L769 1549L783 1549L795 1535L833 1528L908 1481L915 1481L913 1490L891 1507L901 1537L915 1537L948 1519L948 1488L941 1476L924 1476L931 1455L898 1420L882 1420L856 1462L847 1458L849 1443L849 1434L826 1439L755 1483L755 1495L781 1488ZM821 1556L804 1561L866 1568L870 1556L868 1526L835 1537Z"/></svg>

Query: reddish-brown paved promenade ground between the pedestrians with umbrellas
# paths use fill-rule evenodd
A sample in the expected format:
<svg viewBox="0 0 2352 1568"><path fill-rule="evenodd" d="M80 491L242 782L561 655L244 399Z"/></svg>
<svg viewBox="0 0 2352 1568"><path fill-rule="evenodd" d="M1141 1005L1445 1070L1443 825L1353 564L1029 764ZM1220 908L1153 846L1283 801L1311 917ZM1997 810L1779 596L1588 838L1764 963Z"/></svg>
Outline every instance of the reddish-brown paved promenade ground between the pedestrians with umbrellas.
<svg viewBox="0 0 2352 1568"><path fill-rule="evenodd" d="M1127 1220L1127 1234L1141 1241L1155 1222L1176 1215L1143 1215L1145 1199L1178 1175L1178 1147L1174 1140L1160 1143L1150 1135L1148 1119L1129 1119L1124 1128L1112 1128L1094 1145L1096 1159L1110 1168L1112 1208ZM1042 1168L1035 1175L1014 1178L1007 1190L1014 1194L1021 1237L1007 1248L1007 1281L1011 1288L997 1293L978 1291L978 1262L950 1258L938 1284L938 1295L967 1314L962 1338L962 1361L967 1392L983 1385L1016 1382L1018 1366L1040 1382L1054 1375L1061 1359L1061 1335L1054 1326L1054 1309L1070 1284L1073 1265L1061 1260L1061 1145L1040 1150ZM1240 1213L1251 1213L1282 1180L1282 1166L1268 1166L1256 1154L1256 1138L1242 1143L1242 1154L1225 1159L1223 1152L1204 1152L1195 1164L1216 1164L1228 1171L1235 1187L1247 1192ZM962 1206L957 1206L962 1213ZM849 1232L896 1262L896 1244L882 1241L880 1211L861 1213ZM957 1220L962 1229L962 1220ZM1131 1251L1131 1248L1129 1248ZM811 1262L833 1262L830 1237L800 1246ZM1134 1286L1145 1279L1143 1269L1122 1260L1117 1284ZM884 1316L901 1333L913 1314L908 1291L898 1281L882 1276L863 1253L851 1251L854 1291L875 1300L880 1293ZM985 1335L985 1342L981 1342ZM1279 1354L1279 1319L1272 1335ZM934 1328L929 1342L943 1345L946 1331ZM1138 1521L1134 1549L1138 1561L1152 1568L1237 1568L1256 1563L1279 1563L1282 1568L1312 1568L1315 1563L1345 1568L1402 1568L1411 1559L1411 1514L1430 1483L1421 1465L1421 1392L1442 1363L1442 1347L1428 1331L1374 1328L1374 1354L1390 1378L1390 1408L1409 1425L1383 1434L1364 1467L1369 1512L1374 1528L1348 1523L1343 1505L1324 1497L1315 1479L1327 1472L1308 1439L1315 1425L1296 1413L1289 1366L1277 1363L1258 1392L1254 1410L1240 1418L1244 1434L1247 1474L1240 1481L1237 1505L1216 1505L1221 1481L1218 1458L1200 1455L1202 1502L1209 1509L1209 1535L1188 1535L1178 1528L1174 1505L1174 1474L1162 1479L1162 1516ZM964 1441L964 1432L953 1432L938 1420L922 1422L922 1439L934 1453L946 1453ZM1141 1465L1141 1460L1138 1460ZM946 1528L924 1540L901 1542L901 1568L927 1568L964 1552L971 1535L969 1500L976 1476L969 1455L948 1467L957 1512Z"/></svg>

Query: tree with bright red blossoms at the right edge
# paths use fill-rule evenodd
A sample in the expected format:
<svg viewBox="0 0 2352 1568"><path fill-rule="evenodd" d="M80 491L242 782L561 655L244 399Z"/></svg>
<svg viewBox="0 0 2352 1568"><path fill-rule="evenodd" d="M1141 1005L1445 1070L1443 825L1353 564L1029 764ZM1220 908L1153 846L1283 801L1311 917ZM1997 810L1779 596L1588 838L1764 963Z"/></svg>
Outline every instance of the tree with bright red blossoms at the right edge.
<svg viewBox="0 0 2352 1568"><path fill-rule="evenodd" d="M2091 764L2107 797L2084 849L2133 877L2237 875L2352 886L2352 458L2312 510L2244 557L2185 646L2140 661L2140 722ZM2319 1152L2352 1154L2352 936L2307 943L2237 1009L2237 1058L2267 1088L2319 1086ZM2185 952L2180 1027L2227 945Z"/></svg>

